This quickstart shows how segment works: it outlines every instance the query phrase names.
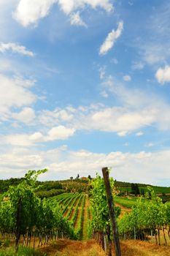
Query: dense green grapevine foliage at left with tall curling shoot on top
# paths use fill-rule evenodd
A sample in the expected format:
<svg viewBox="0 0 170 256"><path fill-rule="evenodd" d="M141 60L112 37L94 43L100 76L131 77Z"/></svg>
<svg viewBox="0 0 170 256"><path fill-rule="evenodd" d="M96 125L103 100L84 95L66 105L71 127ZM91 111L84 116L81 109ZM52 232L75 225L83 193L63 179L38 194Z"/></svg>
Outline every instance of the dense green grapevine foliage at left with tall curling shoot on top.
<svg viewBox="0 0 170 256"><path fill-rule="evenodd" d="M63 218L61 210L48 200L36 196L36 178L47 170L29 170L18 186L9 187L6 200L0 202L0 231L15 233L16 238L27 233L51 234L62 232L74 238L73 227Z"/></svg>

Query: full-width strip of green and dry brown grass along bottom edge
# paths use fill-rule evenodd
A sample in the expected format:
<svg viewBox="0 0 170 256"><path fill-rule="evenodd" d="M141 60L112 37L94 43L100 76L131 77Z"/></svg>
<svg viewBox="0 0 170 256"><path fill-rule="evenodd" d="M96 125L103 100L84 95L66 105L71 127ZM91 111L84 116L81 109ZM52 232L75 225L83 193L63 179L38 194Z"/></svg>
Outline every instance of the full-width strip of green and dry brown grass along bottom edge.
<svg viewBox="0 0 170 256"><path fill-rule="evenodd" d="M158 246L149 241L120 241L122 256L169 256L170 246ZM112 246L112 256L115 249ZM15 248L0 249L0 256L106 256L101 247L93 239L88 241L72 241L60 239L57 242L42 246L39 250L20 246L18 253Z"/></svg>

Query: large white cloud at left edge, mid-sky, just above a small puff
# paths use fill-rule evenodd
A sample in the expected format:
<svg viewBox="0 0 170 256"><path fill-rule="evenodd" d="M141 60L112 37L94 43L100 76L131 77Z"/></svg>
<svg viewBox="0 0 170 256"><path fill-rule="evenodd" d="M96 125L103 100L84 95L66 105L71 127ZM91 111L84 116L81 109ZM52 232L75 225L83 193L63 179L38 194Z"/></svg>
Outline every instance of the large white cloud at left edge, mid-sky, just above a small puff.
<svg viewBox="0 0 170 256"><path fill-rule="evenodd" d="M36 95L29 88L34 86L34 80L23 78L8 78L0 74L0 113L1 120L9 118L12 107L21 108L36 102Z"/></svg>

